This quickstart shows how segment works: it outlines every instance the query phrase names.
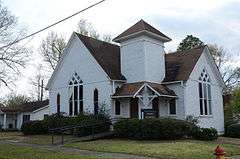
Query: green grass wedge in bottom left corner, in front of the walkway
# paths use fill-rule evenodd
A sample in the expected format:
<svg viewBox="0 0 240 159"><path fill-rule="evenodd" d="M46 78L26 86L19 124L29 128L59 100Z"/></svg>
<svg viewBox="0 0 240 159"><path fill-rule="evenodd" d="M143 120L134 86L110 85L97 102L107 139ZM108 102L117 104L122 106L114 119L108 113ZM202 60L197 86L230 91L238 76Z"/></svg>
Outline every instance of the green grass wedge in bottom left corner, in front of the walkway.
<svg viewBox="0 0 240 159"><path fill-rule="evenodd" d="M97 159L8 144L0 145L0 154L0 159Z"/></svg>

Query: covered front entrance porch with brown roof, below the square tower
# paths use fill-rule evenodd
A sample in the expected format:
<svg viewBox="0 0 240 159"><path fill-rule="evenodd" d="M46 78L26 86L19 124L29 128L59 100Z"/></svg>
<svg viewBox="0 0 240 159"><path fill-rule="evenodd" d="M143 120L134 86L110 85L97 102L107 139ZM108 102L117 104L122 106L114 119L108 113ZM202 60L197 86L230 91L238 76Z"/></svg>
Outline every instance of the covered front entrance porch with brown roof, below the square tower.
<svg viewBox="0 0 240 159"><path fill-rule="evenodd" d="M124 84L112 96L116 118L176 116L176 94L164 85L138 82Z"/></svg>

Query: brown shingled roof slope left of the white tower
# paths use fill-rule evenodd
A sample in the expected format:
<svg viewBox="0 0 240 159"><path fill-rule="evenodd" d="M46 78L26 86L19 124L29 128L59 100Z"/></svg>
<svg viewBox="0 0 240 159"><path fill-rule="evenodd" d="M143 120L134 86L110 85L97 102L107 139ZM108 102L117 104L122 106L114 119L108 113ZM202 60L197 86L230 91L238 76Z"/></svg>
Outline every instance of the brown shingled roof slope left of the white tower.
<svg viewBox="0 0 240 159"><path fill-rule="evenodd" d="M120 47L76 33L92 56L112 80L125 80L121 74Z"/></svg>

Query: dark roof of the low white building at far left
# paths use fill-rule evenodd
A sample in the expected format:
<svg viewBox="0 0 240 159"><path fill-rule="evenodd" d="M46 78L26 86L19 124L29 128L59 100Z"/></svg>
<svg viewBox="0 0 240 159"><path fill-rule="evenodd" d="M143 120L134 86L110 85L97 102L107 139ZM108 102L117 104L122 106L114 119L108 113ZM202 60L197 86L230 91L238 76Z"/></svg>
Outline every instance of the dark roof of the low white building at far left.
<svg viewBox="0 0 240 159"><path fill-rule="evenodd" d="M27 102L27 103L18 105L16 107L0 107L0 110L6 113L33 112L40 108L46 107L48 105L49 105L49 100L34 101L34 102Z"/></svg>

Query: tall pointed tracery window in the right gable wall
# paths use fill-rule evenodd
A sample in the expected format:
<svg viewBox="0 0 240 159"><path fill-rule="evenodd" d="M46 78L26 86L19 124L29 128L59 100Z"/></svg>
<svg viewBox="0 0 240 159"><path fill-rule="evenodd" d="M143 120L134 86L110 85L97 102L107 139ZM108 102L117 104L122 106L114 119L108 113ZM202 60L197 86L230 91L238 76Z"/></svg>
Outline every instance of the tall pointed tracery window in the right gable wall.
<svg viewBox="0 0 240 159"><path fill-rule="evenodd" d="M203 69L198 83L200 115L212 115L211 83L207 71Z"/></svg>

